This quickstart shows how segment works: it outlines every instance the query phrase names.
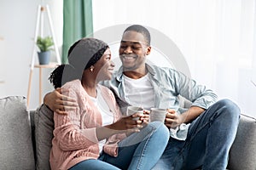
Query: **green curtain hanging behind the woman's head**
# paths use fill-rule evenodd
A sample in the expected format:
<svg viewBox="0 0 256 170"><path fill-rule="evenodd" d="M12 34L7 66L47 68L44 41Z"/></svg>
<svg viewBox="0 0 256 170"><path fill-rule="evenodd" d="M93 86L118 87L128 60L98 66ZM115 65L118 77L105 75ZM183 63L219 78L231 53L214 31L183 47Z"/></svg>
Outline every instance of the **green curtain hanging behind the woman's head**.
<svg viewBox="0 0 256 170"><path fill-rule="evenodd" d="M81 37L93 32L91 0L63 1L62 63L67 63L68 48Z"/></svg>

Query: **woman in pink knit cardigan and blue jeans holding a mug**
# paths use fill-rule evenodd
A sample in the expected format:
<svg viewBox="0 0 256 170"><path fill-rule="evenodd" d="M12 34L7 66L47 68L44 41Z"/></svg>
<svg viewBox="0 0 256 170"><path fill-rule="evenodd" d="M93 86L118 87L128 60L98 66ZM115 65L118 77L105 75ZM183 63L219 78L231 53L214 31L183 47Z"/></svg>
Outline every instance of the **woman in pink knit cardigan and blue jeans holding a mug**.
<svg viewBox="0 0 256 170"><path fill-rule="evenodd" d="M121 117L113 93L98 84L112 77L110 59L105 42L83 38L69 49L69 65L51 73L55 88L62 87L62 94L78 102L66 115L55 113L49 160L53 170L148 170L165 150L169 135L163 123L148 123L147 114Z"/></svg>

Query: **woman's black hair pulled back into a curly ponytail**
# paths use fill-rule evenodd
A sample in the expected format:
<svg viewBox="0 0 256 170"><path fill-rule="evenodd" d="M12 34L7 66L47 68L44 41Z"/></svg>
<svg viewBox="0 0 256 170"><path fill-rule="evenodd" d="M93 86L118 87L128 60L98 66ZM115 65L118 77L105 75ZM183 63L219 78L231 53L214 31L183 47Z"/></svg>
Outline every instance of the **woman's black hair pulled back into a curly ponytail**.
<svg viewBox="0 0 256 170"><path fill-rule="evenodd" d="M95 65L108 49L108 44L96 38L83 38L68 50L69 64L59 65L50 73L49 82L54 88L61 88L66 82L81 80L85 69Z"/></svg>

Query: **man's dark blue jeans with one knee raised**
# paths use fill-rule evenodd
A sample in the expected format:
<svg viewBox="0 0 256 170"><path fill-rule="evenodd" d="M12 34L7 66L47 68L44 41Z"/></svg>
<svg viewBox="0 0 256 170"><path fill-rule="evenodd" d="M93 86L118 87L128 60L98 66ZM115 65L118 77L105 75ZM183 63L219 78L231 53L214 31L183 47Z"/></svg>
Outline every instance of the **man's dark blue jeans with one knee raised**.
<svg viewBox="0 0 256 170"><path fill-rule="evenodd" d="M153 169L226 169L239 117L240 109L236 104L229 99L219 100L191 122L185 141L169 139Z"/></svg>

